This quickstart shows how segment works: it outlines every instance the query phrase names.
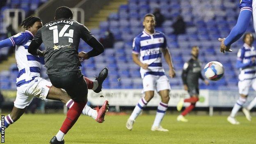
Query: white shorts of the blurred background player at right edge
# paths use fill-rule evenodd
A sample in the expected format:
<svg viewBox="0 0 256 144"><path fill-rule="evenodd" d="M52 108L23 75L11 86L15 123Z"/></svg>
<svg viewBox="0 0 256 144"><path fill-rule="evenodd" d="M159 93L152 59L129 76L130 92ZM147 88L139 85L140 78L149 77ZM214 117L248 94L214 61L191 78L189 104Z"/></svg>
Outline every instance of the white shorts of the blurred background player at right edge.
<svg viewBox="0 0 256 144"><path fill-rule="evenodd" d="M256 91L256 79L242 80L238 82L239 94L248 95L249 89L252 87Z"/></svg>

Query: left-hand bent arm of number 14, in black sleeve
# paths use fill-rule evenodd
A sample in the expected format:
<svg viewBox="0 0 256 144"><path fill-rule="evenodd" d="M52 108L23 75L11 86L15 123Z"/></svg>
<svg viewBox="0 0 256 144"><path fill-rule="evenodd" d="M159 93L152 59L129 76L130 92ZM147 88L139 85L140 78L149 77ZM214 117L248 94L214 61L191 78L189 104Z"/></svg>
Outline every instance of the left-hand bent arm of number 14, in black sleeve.
<svg viewBox="0 0 256 144"><path fill-rule="evenodd" d="M41 57L44 57L45 50L41 51L39 50L39 47L43 43L42 40L42 33L41 33L41 28L37 31L34 39L31 41L30 46L28 47L27 51L28 53L32 55L39 55Z"/></svg>

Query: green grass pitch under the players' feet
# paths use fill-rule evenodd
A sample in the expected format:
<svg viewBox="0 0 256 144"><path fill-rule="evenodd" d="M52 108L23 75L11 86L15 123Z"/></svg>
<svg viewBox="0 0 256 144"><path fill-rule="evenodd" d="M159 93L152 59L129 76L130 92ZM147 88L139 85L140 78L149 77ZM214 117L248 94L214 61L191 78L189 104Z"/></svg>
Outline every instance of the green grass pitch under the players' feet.
<svg viewBox="0 0 256 144"><path fill-rule="evenodd" d="M47 144L58 132L64 114L25 114L5 131L6 144ZM233 126L226 116L187 116L188 123L167 114L162 121L169 132L150 130L155 116L142 115L132 131L126 129L128 116L106 116L104 123L81 116L64 137L65 144L255 144L256 120L238 117Z"/></svg>

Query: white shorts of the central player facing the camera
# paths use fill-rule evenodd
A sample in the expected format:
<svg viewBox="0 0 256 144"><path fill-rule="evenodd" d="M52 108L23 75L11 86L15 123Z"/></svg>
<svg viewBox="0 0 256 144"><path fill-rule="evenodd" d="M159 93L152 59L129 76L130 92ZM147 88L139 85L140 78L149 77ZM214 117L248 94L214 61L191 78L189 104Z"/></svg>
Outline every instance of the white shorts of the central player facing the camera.
<svg viewBox="0 0 256 144"><path fill-rule="evenodd" d="M146 75L142 79L143 91L162 91L165 89L171 89L169 80L166 75Z"/></svg>

